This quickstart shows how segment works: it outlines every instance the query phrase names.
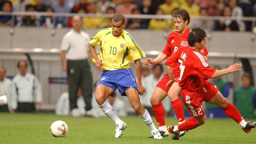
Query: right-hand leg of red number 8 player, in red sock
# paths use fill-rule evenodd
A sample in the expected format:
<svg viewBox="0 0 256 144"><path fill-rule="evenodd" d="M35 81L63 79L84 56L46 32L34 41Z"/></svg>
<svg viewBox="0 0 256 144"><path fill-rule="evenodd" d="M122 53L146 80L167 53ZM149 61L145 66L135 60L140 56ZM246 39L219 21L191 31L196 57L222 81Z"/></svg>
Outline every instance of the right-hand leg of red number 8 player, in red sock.
<svg viewBox="0 0 256 144"><path fill-rule="evenodd" d="M179 99L180 90L181 87L179 86L179 83L174 82L168 91L168 97L170 98L172 107L177 116L178 124L182 124L183 122L185 122L183 104ZM179 136L182 137L183 135L185 135L185 132L186 131L181 131Z"/></svg>

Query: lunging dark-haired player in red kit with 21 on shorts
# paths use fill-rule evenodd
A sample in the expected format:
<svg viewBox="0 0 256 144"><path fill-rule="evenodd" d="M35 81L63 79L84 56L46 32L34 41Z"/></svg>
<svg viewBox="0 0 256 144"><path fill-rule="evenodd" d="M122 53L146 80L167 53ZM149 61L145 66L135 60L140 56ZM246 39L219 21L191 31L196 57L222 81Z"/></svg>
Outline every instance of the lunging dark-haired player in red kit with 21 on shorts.
<svg viewBox="0 0 256 144"><path fill-rule="evenodd" d="M193 28L188 35L189 46L180 47L166 61L166 65L170 66L167 70L170 77L167 85L175 81L173 76L175 71L173 71L172 66L179 64L181 78L179 86L182 88L180 96L190 114L194 116L182 124L168 127L172 138L175 140L179 139L180 131L191 130L205 123L206 115L202 107L202 101L223 108L225 114L233 118L246 133L256 127L256 122L246 122L236 107L218 91L218 87L207 81L210 78L217 78L239 71L242 64L236 63L224 70L212 69L199 53L207 43L205 38L206 33L202 28Z"/></svg>

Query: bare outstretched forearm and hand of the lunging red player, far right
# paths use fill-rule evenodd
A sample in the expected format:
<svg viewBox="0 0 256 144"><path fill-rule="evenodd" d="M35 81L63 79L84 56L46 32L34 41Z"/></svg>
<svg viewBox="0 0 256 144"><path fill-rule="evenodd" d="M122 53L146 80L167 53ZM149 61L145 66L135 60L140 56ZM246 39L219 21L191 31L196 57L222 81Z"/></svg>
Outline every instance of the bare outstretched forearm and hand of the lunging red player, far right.
<svg viewBox="0 0 256 144"><path fill-rule="evenodd" d="M212 75L211 79L224 76L224 75L226 75L228 73L234 73L236 71L239 71L239 70L241 70L241 68L240 68L241 66L242 66L241 63L239 63L239 64L235 63L234 65L229 66L227 69L216 70L215 73Z"/></svg>

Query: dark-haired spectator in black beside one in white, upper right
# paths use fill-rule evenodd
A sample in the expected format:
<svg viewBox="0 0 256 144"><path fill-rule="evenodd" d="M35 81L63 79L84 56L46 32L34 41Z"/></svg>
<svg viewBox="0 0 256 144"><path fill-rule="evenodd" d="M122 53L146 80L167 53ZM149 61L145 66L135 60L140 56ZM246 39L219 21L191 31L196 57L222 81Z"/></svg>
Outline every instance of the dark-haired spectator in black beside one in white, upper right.
<svg viewBox="0 0 256 144"><path fill-rule="evenodd" d="M222 10L222 16L230 17L231 9L229 6L225 6ZM238 24L235 20L221 19L215 23L215 30L219 31L239 31Z"/></svg>

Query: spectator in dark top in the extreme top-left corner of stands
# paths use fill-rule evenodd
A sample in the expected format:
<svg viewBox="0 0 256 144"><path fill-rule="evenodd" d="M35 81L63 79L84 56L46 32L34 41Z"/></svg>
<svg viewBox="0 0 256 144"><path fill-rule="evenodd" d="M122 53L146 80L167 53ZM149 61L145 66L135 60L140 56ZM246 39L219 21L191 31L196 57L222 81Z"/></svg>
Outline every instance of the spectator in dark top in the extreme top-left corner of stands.
<svg viewBox="0 0 256 144"><path fill-rule="evenodd" d="M4 1L2 5L3 12L12 12L12 3L10 1ZM10 26L12 23L11 15L0 15L0 26Z"/></svg>

